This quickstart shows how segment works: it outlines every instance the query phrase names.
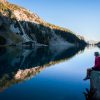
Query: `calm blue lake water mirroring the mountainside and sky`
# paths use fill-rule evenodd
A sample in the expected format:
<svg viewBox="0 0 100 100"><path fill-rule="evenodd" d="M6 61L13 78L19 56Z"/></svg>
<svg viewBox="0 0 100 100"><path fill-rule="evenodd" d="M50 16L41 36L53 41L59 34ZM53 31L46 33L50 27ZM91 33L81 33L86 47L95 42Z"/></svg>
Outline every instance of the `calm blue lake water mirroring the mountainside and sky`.
<svg viewBox="0 0 100 100"><path fill-rule="evenodd" d="M0 100L85 100L90 84L83 78L95 51L0 48Z"/></svg>

